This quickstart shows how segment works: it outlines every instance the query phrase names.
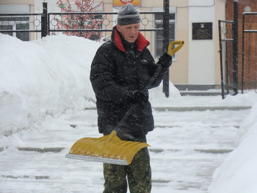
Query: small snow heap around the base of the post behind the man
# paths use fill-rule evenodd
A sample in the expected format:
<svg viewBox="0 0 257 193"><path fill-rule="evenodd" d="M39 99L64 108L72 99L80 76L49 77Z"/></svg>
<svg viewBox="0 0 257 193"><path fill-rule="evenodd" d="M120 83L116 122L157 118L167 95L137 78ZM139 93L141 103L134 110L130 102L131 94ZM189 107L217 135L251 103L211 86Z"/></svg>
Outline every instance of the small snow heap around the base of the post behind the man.
<svg viewBox="0 0 257 193"><path fill-rule="evenodd" d="M169 99L181 97L179 90L170 82L169 98L166 98L164 92L162 92L162 89L163 89L162 82L158 87L149 90L149 101L169 100Z"/></svg>

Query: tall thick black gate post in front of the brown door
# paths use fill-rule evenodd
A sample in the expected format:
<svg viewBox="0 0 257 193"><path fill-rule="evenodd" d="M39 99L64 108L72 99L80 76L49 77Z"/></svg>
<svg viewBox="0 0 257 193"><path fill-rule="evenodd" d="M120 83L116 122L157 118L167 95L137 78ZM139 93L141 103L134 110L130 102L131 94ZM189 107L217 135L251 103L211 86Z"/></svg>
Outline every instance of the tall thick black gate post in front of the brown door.
<svg viewBox="0 0 257 193"><path fill-rule="evenodd" d="M234 21L232 24L233 31L233 89L238 93L238 1L234 2Z"/></svg>

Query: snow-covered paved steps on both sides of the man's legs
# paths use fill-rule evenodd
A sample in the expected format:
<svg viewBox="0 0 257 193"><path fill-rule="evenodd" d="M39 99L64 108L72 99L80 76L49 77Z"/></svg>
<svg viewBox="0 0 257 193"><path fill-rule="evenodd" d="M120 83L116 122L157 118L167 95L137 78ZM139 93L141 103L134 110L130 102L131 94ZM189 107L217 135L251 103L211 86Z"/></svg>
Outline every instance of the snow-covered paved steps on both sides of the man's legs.
<svg viewBox="0 0 257 193"><path fill-rule="evenodd" d="M249 112L153 111L156 128L147 135L152 192L206 192L213 171L228 155L222 152L235 148L238 126ZM44 129L21 137L19 146L65 149L40 153L5 148L0 152L0 192L102 192L102 163L65 158L79 138L102 136L96 110L45 119Z"/></svg>

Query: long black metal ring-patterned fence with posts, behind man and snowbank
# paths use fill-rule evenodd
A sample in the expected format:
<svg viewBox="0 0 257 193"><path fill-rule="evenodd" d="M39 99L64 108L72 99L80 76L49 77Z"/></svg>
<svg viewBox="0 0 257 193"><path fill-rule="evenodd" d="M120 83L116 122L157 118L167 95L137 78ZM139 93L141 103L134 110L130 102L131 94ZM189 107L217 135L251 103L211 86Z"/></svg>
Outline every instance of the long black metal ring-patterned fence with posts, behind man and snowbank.
<svg viewBox="0 0 257 193"><path fill-rule="evenodd" d="M169 0L163 0L162 12L140 12L141 28L144 37L152 39L156 32L158 47L156 53L162 54L168 50L169 43L174 38L169 37L170 14ZM159 20L154 18L158 16ZM62 32L67 35L77 35L91 40L107 40L116 25L117 13L114 12L61 12L48 13L47 3L43 3L43 13L30 14L0 14L0 33L15 36L23 41L30 41ZM174 22L175 26L175 22ZM162 28L159 28L162 27ZM153 42L154 43L154 42ZM151 43L151 46L153 46ZM156 55L158 58L160 55ZM169 97L169 73L163 79L163 92Z"/></svg>

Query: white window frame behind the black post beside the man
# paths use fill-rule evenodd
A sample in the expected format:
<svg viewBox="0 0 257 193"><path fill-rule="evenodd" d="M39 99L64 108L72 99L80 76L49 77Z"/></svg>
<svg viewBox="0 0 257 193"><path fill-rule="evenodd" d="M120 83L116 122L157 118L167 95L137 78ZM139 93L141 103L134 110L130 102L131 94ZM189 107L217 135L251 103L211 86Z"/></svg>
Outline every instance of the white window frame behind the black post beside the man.
<svg viewBox="0 0 257 193"><path fill-rule="evenodd" d="M163 7L152 7L152 11L163 11ZM173 13L175 14L175 20L170 20L169 23L175 23L175 41L177 40L177 7L170 7L170 12L169 13ZM153 19L152 19L152 26L153 28L155 28L155 14L152 15ZM154 57L155 56L155 33L156 32L153 32L152 33L152 56ZM158 61L159 58L156 58L154 57L154 60L155 61ZM172 60L173 61L177 61L177 53L175 53L175 56L172 57Z"/></svg>

